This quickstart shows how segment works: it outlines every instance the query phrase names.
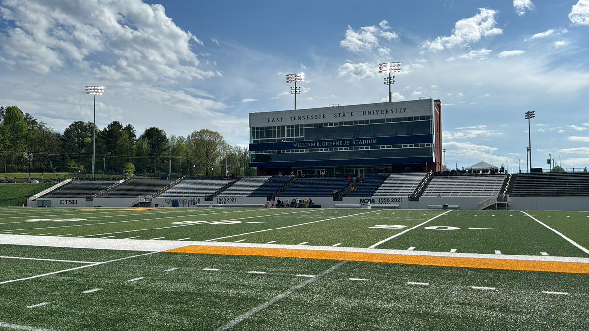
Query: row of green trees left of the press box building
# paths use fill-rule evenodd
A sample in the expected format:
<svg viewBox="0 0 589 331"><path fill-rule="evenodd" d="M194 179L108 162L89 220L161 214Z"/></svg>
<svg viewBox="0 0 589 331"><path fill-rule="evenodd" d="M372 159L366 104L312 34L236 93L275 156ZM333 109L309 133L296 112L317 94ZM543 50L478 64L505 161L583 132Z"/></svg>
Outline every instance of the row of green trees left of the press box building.
<svg viewBox="0 0 589 331"><path fill-rule="evenodd" d="M92 173L95 133L95 176L253 176L247 147L231 146L216 131L194 131L188 137L167 135L156 127L137 136L132 124L112 121L99 130L75 121L64 132L18 107L0 105L0 172ZM82 175L83 174L83 175Z"/></svg>

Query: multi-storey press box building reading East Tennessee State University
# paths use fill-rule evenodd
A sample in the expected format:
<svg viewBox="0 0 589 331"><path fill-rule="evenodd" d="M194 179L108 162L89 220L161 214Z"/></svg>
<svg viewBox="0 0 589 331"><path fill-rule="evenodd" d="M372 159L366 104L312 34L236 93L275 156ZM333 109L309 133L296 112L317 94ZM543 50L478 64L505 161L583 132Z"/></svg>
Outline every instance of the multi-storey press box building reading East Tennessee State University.
<svg viewBox="0 0 589 331"><path fill-rule="evenodd" d="M250 113L259 176L442 170L440 100Z"/></svg>

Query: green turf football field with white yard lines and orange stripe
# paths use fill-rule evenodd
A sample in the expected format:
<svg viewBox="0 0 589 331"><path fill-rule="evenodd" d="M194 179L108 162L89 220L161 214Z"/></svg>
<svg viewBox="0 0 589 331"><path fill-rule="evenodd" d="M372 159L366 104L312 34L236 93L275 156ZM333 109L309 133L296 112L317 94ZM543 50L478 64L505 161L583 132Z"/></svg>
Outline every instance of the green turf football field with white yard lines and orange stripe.
<svg viewBox="0 0 589 331"><path fill-rule="evenodd" d="M0 329L587 330L587 247L575 211L0 208Z"/></svg>

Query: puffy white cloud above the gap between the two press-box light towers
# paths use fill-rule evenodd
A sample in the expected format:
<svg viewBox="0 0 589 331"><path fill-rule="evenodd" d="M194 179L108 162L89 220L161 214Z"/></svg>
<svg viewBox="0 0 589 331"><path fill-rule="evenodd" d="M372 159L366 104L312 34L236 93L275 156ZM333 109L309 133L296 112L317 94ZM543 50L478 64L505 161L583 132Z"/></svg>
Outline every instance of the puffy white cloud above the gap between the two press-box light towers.
<svg viewBox="0 0 589 331"><path fill-rule="evenodd" d="M379 27L371 25L370 27L360 28L360 31L354 31L348 25L345 38L339 42L339 45L355 53L370 51L373 48L379 48L379 37L388 41L399 39L399 35L395 32L386 31L388 29L390 29L388 22L384 19L379 23Z"/></svg>

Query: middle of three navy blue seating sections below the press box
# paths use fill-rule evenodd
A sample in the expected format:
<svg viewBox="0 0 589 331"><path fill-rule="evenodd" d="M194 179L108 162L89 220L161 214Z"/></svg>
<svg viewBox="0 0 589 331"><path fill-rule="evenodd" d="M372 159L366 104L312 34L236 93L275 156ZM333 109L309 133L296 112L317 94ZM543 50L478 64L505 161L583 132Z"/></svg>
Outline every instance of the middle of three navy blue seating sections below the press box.
<svg viewBox="0 0 589 331"><path fill-rule="evenodd" d="M280 196L331 197L342 192L349 183L347 178L297 178Z"/></svg>

